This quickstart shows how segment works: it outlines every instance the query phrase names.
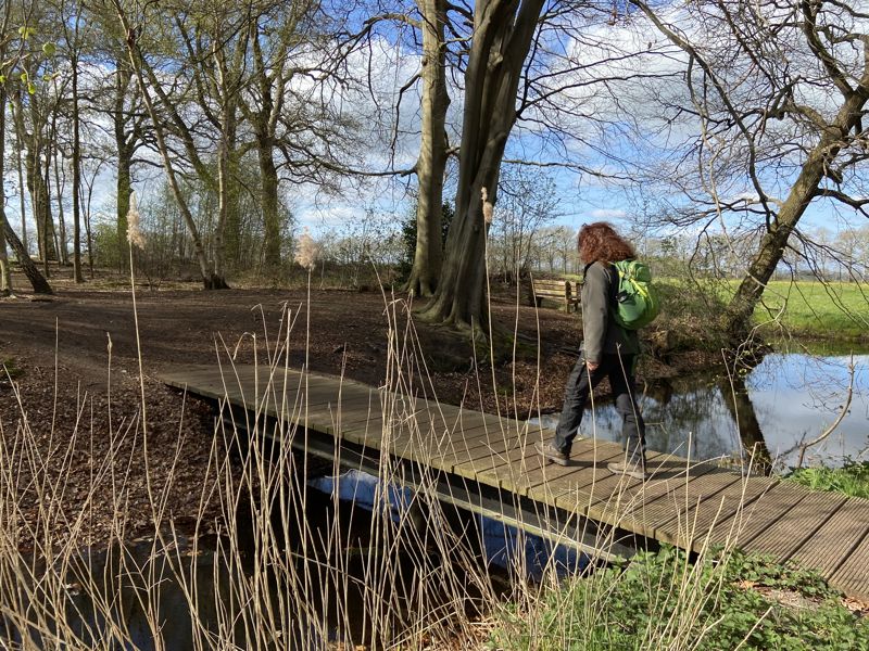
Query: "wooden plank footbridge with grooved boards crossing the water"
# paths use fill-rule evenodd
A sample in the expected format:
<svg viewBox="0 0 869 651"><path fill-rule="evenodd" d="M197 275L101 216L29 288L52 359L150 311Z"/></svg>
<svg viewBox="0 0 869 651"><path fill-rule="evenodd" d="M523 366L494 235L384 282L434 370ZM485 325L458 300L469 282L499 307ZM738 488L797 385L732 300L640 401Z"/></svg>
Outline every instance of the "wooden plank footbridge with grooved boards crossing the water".
<svg viewBox="0 0 869 651"><path fill-rule="evenodd" d="M304 425L338 445L413 462L451 480L540 509L701 551L735 542L794 560L851 597L869 600L869 500L817 493L715 463L650 452L645 481L606 470L616 444L580 439L569 467L533 451L549 430L387 392L349 380L253 367L184 368L162 374L189 393L245 412ZM538 529L541 533L544 525Z"/></svg>

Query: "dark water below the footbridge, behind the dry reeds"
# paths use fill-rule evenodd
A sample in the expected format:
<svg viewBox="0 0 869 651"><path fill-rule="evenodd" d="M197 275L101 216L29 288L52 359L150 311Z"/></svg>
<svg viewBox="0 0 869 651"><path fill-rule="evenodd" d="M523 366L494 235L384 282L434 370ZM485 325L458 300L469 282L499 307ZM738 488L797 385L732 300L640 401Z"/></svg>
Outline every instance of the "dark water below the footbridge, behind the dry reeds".
<svg viewBox="0 0 869 651"><path fill-rule="evenodd" d="M482 592L475 576L500 593L512 580L539 580L550 571L565 576L589 562L574 549L445 505L432 520L412 492L365 473L306 485L312 489L298 513L276 502L284 515L270 518L285 538L276 547L256 540L255 514L244 513L235 536L167 533L164 541L84 549L60 563L60 574L22 557L34 577L50 577L51 589L32 586L27 593L50 599L56 616L0 615L0 649L380 647L410 635L424 605L441 617L477 612ZM434 535L431 526L444 531ZM0 590L2 612L30 610L27 598L12 604L10 598ZM242 616L250 609L262 612Z"/></svg>

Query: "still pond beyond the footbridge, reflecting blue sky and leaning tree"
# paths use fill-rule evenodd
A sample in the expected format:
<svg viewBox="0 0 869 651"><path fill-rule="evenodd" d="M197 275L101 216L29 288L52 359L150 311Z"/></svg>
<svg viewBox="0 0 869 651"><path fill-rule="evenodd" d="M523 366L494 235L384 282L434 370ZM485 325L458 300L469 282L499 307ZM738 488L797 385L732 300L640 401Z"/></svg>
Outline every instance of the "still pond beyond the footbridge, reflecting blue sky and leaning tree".
<svg viewBox="0 0 869 651"><path fill-rule="evenodd" d="M642 397L648 449L694 460L746 459L763 446L777 468L796 463L798 446L817 438L842 410L834 432L806 454L804 464L841 465L869 458L869 354L814 356L771 354L743 378L727 374L673 381ZM642 391L642 387L640 387ZM541 419L555 426L557 414ZM589 407L580 434L619 441L621 419L610 404Z"/></svg>

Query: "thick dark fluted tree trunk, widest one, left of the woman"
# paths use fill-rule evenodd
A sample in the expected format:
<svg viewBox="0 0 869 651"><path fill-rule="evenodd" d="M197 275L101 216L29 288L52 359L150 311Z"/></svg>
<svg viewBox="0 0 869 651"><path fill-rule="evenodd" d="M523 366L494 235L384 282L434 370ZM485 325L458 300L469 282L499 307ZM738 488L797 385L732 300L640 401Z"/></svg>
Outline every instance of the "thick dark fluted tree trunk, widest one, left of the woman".
<svg viewBox="0 0 869 651"><path fill-rule="evenodd" d="M490 0L475 9L465 72L465 107L455 218L446 239L441 279L424 317L486 332L486 235L481 190L498 197L501 161L516 122L516 94L543 0ZM482 330L478 330L482 328Z"/></svg>

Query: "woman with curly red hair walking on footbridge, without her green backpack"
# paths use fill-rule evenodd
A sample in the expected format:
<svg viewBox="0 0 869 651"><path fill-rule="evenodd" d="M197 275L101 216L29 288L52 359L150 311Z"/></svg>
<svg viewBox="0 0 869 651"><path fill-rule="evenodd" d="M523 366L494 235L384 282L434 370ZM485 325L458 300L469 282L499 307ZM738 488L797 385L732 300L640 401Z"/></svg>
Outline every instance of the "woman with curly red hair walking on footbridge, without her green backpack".
<svg viewBox="0 0 869 651"><path fill-rule="evenodd" d="M579 256L585 265L582 284L582 347L564 394L564 408L555 438L536 445L549 461L567 465L582 411L589 396L604 378L622 418L621 435L625 459L609 463L614 473L638 480L646 478L645 423L637 406L634 366L640 341L634 330L619 327L613 319L618 292L618 272L613 263L637 257L633 246L605 221L589 224L579 230Z"/></svg>

